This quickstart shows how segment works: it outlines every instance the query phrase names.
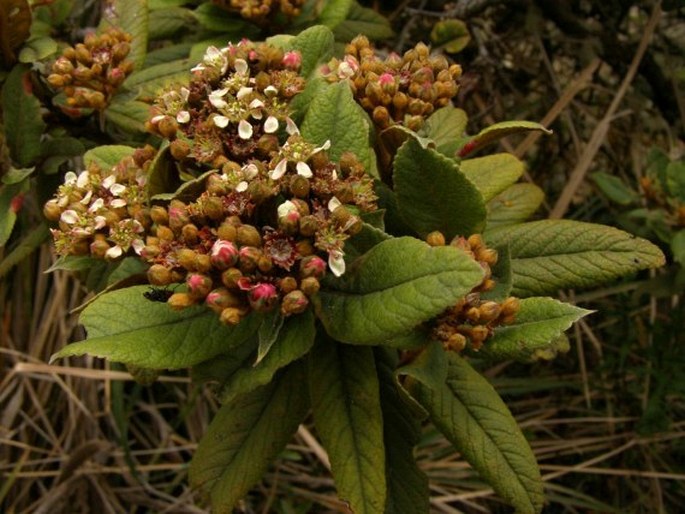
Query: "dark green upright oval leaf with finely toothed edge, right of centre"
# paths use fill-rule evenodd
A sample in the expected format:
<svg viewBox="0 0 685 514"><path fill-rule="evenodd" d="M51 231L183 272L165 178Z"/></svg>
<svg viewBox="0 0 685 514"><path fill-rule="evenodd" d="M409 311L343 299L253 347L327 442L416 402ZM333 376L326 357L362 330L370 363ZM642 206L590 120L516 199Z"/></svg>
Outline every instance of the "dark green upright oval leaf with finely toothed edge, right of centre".
<svg viewBox="0 0 685 514"><path fill-rule="evenodd" d="M453 160L435 150L408 140L395 157L393 179L400 212L421 237L439 230L449 241L483 227L482 195Z"/></svg>

